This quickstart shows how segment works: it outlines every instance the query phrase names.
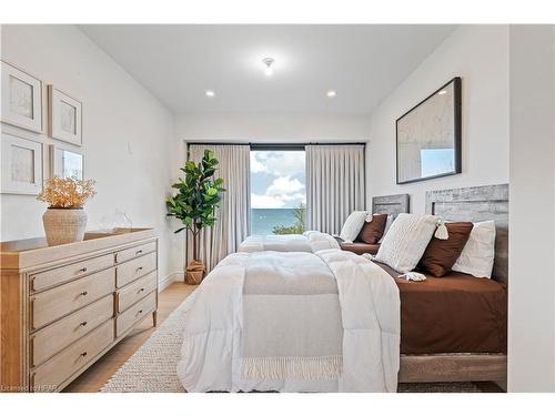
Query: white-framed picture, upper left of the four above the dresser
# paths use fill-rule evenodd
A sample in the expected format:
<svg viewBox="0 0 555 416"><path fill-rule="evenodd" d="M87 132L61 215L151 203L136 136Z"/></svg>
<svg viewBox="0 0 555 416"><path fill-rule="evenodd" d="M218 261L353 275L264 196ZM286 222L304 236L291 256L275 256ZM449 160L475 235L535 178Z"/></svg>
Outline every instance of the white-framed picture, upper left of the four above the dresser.
<svg viewBox="0 0 555 416"><path fill-rule="evenodd" d="M42 82L34 77L0 61L2 80L1 121L42 132Z"/></svg>

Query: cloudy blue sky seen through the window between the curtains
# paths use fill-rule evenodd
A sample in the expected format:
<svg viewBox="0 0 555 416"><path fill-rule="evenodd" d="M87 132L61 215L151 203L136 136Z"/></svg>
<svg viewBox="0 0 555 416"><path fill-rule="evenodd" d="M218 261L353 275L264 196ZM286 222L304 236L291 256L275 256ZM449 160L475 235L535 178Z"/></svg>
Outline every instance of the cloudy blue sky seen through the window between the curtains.
<svg viewBox="0 0 555 416"><path fill-rule="evenodd" d="M304 151L251 151L251 207L306 203Z"/></svg>

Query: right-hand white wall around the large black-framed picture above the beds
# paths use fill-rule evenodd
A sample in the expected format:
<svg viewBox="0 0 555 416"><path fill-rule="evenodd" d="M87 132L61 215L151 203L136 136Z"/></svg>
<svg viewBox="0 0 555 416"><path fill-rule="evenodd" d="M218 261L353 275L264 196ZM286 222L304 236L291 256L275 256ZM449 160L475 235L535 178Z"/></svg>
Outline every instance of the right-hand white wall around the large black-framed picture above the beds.
<svg viewBox="0 0 555 416"><path fill-rule="evenodd" d="M463 26L453 32L372 112L367 197L411 194L424 212L434 189L508 182L508 37L506 26ZM463 173L395 184L395 120L453 77L463 79Z"/></svg>

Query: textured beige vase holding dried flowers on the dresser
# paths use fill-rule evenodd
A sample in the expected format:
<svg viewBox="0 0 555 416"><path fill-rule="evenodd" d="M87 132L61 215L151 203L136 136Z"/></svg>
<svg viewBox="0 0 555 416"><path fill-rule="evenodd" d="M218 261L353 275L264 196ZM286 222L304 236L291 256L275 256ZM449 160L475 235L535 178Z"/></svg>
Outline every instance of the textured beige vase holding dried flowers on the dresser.
<svg viewBox="0 0 555 416"><path fill-rule="evenodd" d="M42 215L48 245L83 241L87 213L82 209L48 209Z"/></svg>

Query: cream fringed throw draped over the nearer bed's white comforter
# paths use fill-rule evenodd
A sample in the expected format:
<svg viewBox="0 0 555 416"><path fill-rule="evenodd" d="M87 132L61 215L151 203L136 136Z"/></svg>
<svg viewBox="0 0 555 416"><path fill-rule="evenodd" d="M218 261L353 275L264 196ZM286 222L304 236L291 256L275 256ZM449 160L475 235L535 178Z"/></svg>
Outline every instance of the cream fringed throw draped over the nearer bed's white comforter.
<svg viewBox="0 0 555 416"><path fill-rule="evenodd" d="M337 284L320 257L252 255L243 283L244 378L337 377L342 342Z"/></svg>

